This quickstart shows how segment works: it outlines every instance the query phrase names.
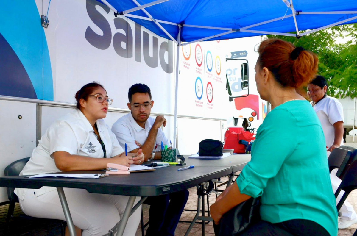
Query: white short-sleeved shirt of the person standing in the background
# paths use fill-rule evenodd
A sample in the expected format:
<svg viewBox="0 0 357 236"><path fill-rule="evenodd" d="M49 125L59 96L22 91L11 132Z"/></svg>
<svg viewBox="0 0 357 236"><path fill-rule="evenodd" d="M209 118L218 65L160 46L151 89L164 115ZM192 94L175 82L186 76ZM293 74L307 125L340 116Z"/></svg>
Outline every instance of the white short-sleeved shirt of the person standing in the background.
<svg viewBox="0 0 357 236"><path fill-rule="evenodd" d="M331 147L335 140L335 128L333 124L337 121L343 121L342 104L335 97L326 96L318 101L317 104L313 106L313 109L321 122L326 146ZM343 144L343 139L341 140L341 144Z"/></svg>

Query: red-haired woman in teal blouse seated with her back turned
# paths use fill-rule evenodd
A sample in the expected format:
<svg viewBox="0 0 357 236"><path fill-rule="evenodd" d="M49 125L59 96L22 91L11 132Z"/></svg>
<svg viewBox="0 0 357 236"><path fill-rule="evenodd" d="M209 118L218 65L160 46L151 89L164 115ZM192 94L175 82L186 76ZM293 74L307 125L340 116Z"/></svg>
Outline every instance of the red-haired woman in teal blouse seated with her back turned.
<svg viewBox="0 0 357 236"><path fill-rule="evenodd" d="M313 78L317 57L278 40L261 42L255 80L273 110L257 130L251 161L236 184L210 207L216 224L250 197L261 196L261 221L240 235L336 236L337 210L325 137L299 90Z"/></svg>

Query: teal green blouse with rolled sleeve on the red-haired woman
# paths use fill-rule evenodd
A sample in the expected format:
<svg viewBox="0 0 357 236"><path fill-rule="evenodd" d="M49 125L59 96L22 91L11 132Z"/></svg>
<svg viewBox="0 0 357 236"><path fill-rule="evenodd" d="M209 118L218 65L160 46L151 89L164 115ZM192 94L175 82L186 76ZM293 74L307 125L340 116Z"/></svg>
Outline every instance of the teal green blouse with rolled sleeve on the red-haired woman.
<svg viewBox="0 0 357 236"><path fill-rule="evenodd" d="M262 220L311 220L337 235L325 137L308 101L285 102L268 113L236 182L241 193L261 196Z"/></svg>

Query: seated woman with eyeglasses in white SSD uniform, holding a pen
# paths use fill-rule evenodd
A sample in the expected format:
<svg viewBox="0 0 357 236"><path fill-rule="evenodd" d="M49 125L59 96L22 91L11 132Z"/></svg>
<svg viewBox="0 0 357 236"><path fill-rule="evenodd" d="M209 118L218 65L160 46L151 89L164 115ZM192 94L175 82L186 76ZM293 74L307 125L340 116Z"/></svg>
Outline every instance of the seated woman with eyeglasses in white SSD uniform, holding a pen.
<svg viewBox="0 0 357 236"><path fill-rule="evenodd" d="M75 98L77 109L47 129L20 175L101 170L108 163L130 166L144 161L141 149L126 156L102 120L113 101L102 85L96 82L86 84L77 91ZM93 194L85 189L64 188L64 192L76 231L79 231L77 235L83 236L106 234L121 219L129 200L129 196ZM15 194L26 215L65 220L55 187L16 188ZM140 215L139 208L129 217L124 235L135 235Z"/></svg>

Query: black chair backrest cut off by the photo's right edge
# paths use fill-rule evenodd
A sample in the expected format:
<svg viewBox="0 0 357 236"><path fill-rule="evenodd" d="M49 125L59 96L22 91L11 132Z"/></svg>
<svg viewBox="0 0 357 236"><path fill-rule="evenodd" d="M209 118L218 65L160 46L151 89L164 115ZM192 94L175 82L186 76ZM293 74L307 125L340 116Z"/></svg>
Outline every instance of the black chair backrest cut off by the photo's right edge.
<svg viewBox="0 0 357 236"><path fill-rule="evenodd" d="M341 190L345 191L340 202L337 204L337 210L341 209L343 202L347 199L348 194L352 190L357 189L357 150L353 151L351 154L351 164L348 165L348 169L346 170L346 174L342 179L340 186L338 186L335 197L340 194Z"/></svg>

